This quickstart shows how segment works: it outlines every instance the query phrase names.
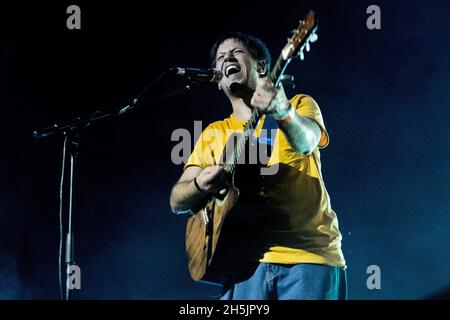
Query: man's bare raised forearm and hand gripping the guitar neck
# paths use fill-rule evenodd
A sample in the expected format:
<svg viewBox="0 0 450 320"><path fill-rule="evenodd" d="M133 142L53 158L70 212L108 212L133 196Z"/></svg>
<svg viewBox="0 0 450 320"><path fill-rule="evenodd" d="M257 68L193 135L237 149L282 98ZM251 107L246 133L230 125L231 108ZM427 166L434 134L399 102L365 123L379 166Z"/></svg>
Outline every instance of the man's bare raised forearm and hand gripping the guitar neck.
<svg viewBox="0 0 450 320"><path fill-rule="evenodd" d="M309 155L317 148L321 138L319 125L295 112L282 86L275 88L268 78L260 78L251 104L277 120L296 153Z"/></svg>

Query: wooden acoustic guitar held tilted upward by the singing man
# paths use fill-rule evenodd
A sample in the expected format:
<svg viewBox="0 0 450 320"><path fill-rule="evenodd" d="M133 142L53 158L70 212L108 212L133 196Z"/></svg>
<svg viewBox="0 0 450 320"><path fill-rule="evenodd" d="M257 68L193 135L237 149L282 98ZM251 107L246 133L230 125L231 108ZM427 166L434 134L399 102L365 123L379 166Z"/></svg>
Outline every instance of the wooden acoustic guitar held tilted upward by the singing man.
<svg viewBox="0 0 450 320"><path fill-rule="evenodd" d="M268 75L275 86L283 80L284 71L293 58L304 59L304 51L309 51L310 43L317 40L317 27L315 13L309 11L297 29L292 31L292 36L288 38ZM257 257L251 257L250 250L246 247L251 239L251 223L257 218L245 219L242 212L235 212L239 189L234 185L234 172L261 117L259 110L254 108L243 134L233 145L228 161L223 164L224 170L232 177L226 195L207 199L206 205L188 218L186 253L189 272L195 281L223 285L231 280L246 278L257 264Z"/></svg>

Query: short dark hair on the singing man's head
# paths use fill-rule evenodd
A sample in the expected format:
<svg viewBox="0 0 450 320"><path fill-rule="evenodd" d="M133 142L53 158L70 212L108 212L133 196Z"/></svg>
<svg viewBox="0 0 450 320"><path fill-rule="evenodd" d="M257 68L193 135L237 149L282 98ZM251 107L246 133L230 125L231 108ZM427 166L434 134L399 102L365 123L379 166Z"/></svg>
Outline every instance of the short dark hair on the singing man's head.
<svg viewBox="0 0 450 320"><path fill-rule="evenodd" d="M219 38L211 48L210 62L212 67L215 67L216 65L217 49L227 39L237 39L241 41L250 51L250 54L253 56L253 58L255 58L257 61L263 60L266 64L267 70L270 70L270 63L272 62L272 58L270 56L269 49L267 49L267 46L264 44L264 42L252 35L239 31L228 31L219 36Z"/></svg>

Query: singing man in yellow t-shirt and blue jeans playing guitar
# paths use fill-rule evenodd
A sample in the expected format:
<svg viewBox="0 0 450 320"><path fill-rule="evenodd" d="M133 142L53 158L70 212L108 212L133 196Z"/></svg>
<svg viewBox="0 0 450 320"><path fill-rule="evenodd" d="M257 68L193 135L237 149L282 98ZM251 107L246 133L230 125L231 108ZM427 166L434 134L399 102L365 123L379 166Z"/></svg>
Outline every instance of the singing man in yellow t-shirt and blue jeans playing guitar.
<svg viewBox="0 0 450 320"><path fill-rule="evenodd" d="M321 174L319 149L329 138L319 106L305 94L288 100L283 87L271 83L266 76L269 51L253 36L222 35L211 59L224 74L219 89L228 97L232 114L203 131L172 189L173 212L192 213L206 198L227 192L223 146L230 132L242 132L253 108L264 114L256 135L269 119L275 119L276 130L266 165L277 169L263 179L244 173L241 179L246 185L241 197L254 201L260 214L248 239L257 266L245 279L224 286L221 299L346 299L342 237Z"/></svg>

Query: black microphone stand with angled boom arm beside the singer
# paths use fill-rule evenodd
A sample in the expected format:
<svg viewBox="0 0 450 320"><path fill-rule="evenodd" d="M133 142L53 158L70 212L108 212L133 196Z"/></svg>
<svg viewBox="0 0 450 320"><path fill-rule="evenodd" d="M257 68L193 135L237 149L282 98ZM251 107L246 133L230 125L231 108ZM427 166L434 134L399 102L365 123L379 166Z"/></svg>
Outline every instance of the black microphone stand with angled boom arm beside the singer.
<svg viewBox="0 0 450 320"><path fill-rule="evenodd" d="M98 121L103 119L109 119L113 117L119 117L122 116L134 109L140 108L144 105L149 105L158 101L162 101L165 99L168 99L170 97L174 97L177 95L181 95L187 92L190 92L193 90L194 85L198 85L198 82L190 82L188 85L186 85L182 89L174 90L168 93L165 93L163 95L157 96L155 98L146 98L146 95L151 87L153 87L163 76L167 75L168 73L173 72L172 69L169 69L167 71L164 71L160 76L158 76L153 82L151 82L135 99L133 99L132 103L122 106L119 108L114 108L106 111L95 111L90 117L88 118L82 118L82 117L76 117L70 121L62 122L62 123L55 123L49 127L35 130L33 131L33 137L35 139L41 139L44 137L52 136L52 135L62 135L64 136L64 152L63 152L63 164L62 164L62 180L61 180L61 189L60 189L60 219L62 219L62 202L63 199L66 198L65 192L64 192L64 186L63 186L63 178L66 174L65 169L65 151L66 146L69 146L69 152L70 152L70 168L69 168L69 194L68 194L68 212L67 212L67 234L66 234L66 242L65 242L65 263L66 263L66 286L65 286L65 293L62 294L62 283L61 283L61 265L59 266L59 275L60 275L60 290L61 290L61 298L63 300L72 300L72 291L73 288L69 286L69 280L70 280L70 272L72 270L72 266L75 265L74 263L74 237L73 237L73 226L72 226L72 220L73 220L73 191L74 191L74 171L77 168L77 160L78 160L78 154L79 154L79 146L80 146L80 137L79 132L93 124L96 124ZM190 79L191 80L191 79ZM196 87L195 87L196 88ZM61 222L62 223L62 222ZM62 231L61 231L62 232ZM60 248L61 250L61 248ZM60 259L61 259L61 252L60 252ZM61 262L61 260L60 260Z"/></svg>

